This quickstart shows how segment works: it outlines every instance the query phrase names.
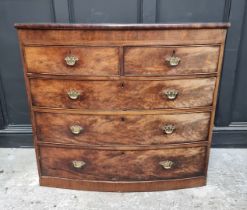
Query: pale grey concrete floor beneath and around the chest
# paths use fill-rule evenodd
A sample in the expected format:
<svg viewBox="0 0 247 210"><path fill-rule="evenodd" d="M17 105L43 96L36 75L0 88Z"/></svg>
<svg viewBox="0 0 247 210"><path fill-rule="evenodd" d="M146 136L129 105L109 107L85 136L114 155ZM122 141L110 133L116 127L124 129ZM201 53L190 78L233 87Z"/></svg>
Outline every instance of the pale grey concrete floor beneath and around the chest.
<svg viewBox="0 0 247 210"><path fill-rule="evenodd" d="M104 193L38 185L33 149L0 149L0 210L247 210L247 150L212 149L208 184L184 190Z"/></svg>

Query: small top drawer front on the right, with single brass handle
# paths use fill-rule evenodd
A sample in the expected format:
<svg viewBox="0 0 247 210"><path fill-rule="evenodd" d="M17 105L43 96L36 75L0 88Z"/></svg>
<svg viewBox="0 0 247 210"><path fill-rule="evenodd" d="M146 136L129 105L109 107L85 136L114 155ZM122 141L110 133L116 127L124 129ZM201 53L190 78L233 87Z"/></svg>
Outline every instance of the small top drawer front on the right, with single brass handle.
<svg viewBox="0 0 247 210"><path fill-rule="evenodd" d="M126 75L186 75L216 72L219 47L127 47Z"/></svg>

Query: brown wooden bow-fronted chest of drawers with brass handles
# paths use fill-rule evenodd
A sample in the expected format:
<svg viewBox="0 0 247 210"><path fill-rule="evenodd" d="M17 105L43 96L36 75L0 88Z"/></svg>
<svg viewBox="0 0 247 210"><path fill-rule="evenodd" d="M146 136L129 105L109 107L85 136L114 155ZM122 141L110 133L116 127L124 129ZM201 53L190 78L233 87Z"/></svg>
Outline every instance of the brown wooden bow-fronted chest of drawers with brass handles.
<svg viewBox="0 0 247 210"><path fill-rule="evenodd" d="M17 24L40 184L206 184L229 24Z"/></svg>

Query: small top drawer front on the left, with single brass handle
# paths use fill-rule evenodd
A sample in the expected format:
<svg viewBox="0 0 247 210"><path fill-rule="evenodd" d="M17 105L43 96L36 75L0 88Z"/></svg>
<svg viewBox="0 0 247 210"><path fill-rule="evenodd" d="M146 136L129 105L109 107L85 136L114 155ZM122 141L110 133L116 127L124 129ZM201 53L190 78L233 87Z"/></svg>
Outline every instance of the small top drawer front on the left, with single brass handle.
<svg viewBox="0 0 247 210"><path fill-rule="evenodd" d="M117 47L25 47L27 71L62 75L118 75Z"/></svg>

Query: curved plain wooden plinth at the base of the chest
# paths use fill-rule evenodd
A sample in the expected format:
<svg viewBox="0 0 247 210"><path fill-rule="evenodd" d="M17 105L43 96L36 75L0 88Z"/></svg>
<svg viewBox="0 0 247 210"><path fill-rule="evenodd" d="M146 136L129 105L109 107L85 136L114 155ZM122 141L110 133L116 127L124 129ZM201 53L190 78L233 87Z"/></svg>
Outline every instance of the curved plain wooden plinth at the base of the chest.
<svg viewBox="0 0 247 210"><path fill-rule="evenodd" d="M175 190L206 185L206 177L190 177L185 179L168 179L155 181L84 181L79 179L65 179L50 176L41 176L40 185L46 187L59 187L74 190L90 190L104 192L146 192Z"/></svg>

